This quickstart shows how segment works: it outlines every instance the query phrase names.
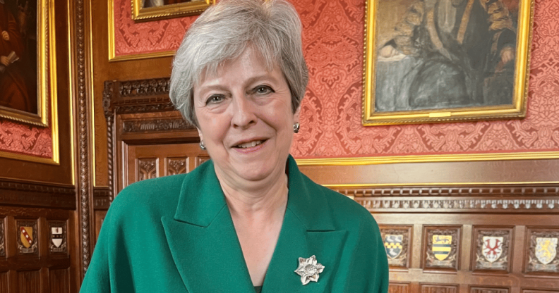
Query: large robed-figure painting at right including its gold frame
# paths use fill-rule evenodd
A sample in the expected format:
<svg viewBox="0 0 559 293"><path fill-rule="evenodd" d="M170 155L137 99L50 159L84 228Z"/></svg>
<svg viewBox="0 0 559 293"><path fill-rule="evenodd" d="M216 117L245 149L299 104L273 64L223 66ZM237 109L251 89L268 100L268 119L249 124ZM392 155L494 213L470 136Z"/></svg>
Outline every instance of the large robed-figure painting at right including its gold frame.
<svg viewBox="0 0 559 293"><path fill-rule="evenodd" d="M368 0L363 125L524 118L533 0Z"/></svg>

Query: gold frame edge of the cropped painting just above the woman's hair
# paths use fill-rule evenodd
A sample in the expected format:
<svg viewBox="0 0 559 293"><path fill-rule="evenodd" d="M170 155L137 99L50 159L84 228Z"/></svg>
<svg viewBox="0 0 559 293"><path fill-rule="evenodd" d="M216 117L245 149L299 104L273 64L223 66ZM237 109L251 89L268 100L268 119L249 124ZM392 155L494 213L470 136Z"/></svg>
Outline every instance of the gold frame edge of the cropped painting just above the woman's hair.
<svg viewBox="0 0 559 293"><path fill-rule="evenodd" d="M196 15L203 13L206 8L214 4L214 0L193 1L181 4L170 4L160 7L142 8L142 0L132 1L132 19L136 22L176 18L180 16Z"/></svg>

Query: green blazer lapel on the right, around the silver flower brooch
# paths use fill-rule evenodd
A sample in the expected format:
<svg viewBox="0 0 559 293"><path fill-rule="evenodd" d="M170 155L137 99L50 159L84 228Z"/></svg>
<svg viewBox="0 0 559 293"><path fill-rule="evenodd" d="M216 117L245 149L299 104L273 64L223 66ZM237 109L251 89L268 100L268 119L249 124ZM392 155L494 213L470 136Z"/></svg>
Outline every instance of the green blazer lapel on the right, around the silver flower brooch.
<svg viewBox="0 0 559 293"><path fill-rule="evenodd" d="M263 292L329 292L337 271L345 230L335 230L325 194L299 172L289 156L289 199L282 231L268 267ZM311 196L312 194L312 196ZM315 256L325 268L318 282L302 285L294 271L299 257Z"/></svg>

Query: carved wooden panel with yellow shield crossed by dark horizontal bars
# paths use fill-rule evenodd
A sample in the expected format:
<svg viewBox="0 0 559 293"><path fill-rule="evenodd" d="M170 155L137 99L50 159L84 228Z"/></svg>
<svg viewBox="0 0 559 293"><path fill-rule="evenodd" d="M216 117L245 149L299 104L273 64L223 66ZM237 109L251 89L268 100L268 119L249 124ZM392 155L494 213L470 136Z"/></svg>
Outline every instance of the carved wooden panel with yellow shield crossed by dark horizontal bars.
<svg viewBox="0 0 559 293"><path fill-rule="evenodd" d="M423 227L423 269L458 270L461 228Z"/></svg>

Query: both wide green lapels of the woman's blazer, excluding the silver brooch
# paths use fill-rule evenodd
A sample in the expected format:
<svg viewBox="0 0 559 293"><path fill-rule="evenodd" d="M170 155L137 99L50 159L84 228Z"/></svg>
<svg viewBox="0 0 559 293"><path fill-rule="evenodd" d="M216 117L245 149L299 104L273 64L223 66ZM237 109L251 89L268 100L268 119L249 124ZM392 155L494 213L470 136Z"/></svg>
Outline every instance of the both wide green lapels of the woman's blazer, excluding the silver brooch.
<svg viewBox="0 0 559 293"><path fill-rule="evenodd" d="M347 232L335 230L323 189L287 160L288 201L263 292L326 292ZM189 292L253 292L220 182L210 161L185 177L174 218L162 217L173 261ZM301 285L299 257L325 266L318 283Z"/></svg>

